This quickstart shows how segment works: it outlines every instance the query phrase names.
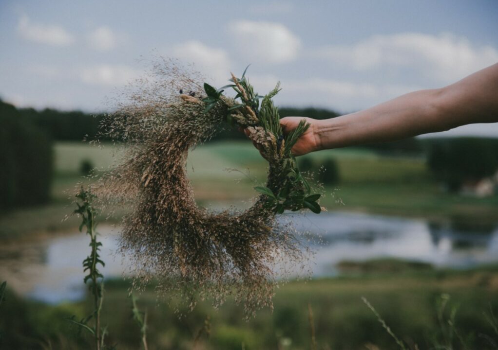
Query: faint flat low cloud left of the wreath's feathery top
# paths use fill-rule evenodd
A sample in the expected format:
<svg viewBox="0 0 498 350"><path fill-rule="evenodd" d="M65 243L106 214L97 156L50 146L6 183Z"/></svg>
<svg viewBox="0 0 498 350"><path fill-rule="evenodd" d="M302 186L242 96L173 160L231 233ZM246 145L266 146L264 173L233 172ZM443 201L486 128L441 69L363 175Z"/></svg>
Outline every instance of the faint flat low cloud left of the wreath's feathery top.
<svg viewBox="0 0 498 350"><path fill-rule="evenodd" d="M83 82L92 85L123 86L139 76L139 72L125 65L99 65L81 71Z"/></svg>

